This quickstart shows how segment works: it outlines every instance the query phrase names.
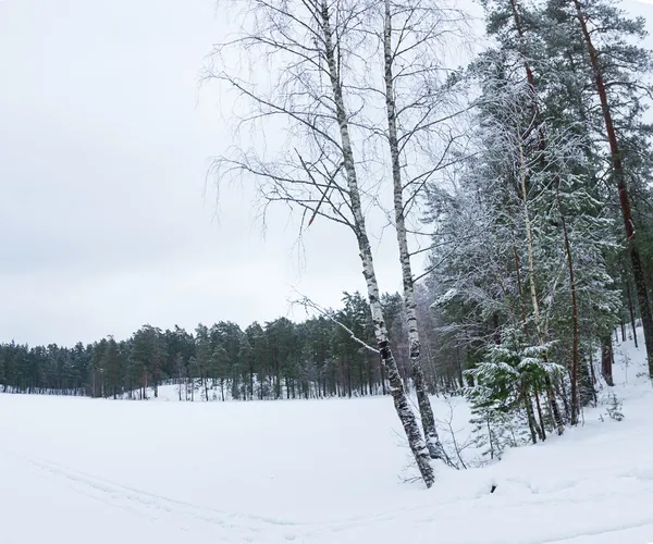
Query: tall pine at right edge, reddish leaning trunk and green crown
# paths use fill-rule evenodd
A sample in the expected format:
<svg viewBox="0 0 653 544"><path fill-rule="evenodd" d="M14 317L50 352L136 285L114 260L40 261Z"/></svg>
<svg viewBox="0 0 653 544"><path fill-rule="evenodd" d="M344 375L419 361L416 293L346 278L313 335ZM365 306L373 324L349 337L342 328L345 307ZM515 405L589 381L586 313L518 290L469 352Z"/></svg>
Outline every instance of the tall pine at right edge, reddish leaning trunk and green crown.
<svg viewBox="0 0 653 544"><path fill-rule="evenodd" d="M631 197L632 186L641 183L641 178L638 180L641 166L645 164L644 172L651 170L650 152L641 152L644 147L641 144L650 134L641 121L645 111L644 98L649 94L641 82L642 76L651 72L653 58L648 50L633 46L630 39L645 36L644 21L627 18L614 2L606 0L550 0L547 14L558 55L584 72L594 94L589 103L600 107L597 110L584 108L583 120L601 135L607 148L605 154L617 188L653 379L653 314L645 280L649 271L636 236L638 227ZM600 121L602 129L599 128Z"/></svg>

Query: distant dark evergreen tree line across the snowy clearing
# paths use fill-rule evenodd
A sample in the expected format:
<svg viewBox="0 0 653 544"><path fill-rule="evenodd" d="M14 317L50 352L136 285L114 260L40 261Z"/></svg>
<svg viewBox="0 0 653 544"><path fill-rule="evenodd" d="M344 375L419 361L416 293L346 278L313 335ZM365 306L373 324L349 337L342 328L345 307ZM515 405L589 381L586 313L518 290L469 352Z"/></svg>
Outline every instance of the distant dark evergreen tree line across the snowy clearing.
<svg viewBox="0 0 653 544"><path fill-rule="evenodd" d="M174 384L183 400L387 394L379 356L358 342L373 341L369 305L359 293L345 294L343 302L328 317L298 323L279 318L245 330L229 321L199 324L193 332L147 324L127 339L109 336L72 348L0 344L0 391L147 399L158 397L161 384ZM402 299L385 295L383 305L393 337L401 343L406 327ZM426 312L424 305L426 298ZM399 368L410 382L407 356ZM429 390L445 386L431 369Z"/></svg>

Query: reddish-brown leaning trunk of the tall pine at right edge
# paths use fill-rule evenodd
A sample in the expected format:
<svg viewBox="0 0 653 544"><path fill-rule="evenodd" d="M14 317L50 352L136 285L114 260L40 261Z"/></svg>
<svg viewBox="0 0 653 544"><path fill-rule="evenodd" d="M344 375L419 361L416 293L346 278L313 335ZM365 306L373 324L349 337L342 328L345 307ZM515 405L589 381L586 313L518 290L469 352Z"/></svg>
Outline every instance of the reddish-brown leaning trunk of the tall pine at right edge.
<svg viewBox="0 0 653 544"><path fill-rule="evenodd" d="M646 289L644 268L642 264L638 243L636 239L634 221L632 219L632 211L630 209L630 197L626 187L624 163L621 162L621 154L619 152L617 134L612 119L609 103L607 101L607 92L605 90L605 83L603 81L603 73L601 71L599 55L596 54L596 50L594 49L594 44L592 42L592 37L587 24L588 17L583 13L579 0L574 0L574 5L576 7L576 15L578 22L580 23L582 35L588 47L590 63L594 72L594 84L596 86L596 92L601 100L601 108L603 110L603 119L605 122L605 132L607 135L607 140L609 143L613 171L617 181L617 189L619 193L619 205L621 207L624 225L626 227L626 239L628 240L632 275L634 277L634 288L637 290L640 316L642 319L642 327L644 330L644 344L646 346L649 376L653 380L653 316L651 314L651 307L649 305L649 292Z"/></svg>

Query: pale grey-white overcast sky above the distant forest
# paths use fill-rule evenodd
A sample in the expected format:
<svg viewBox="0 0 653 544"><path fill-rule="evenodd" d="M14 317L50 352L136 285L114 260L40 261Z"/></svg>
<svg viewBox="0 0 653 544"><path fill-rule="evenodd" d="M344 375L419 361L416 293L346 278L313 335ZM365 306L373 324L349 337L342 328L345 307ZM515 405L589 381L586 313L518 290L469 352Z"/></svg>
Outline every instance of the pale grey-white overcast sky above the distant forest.
<svg viewBox="0 0 653 544"><path fill-rule="evenodd" d="M250 194L205 193L230 133L198 75L225 33L212 0L0 0L0 342L245 326L293 317L293 288L365 288L348 232L316 221L300 263L284 213L263 238Z"/></svg>

